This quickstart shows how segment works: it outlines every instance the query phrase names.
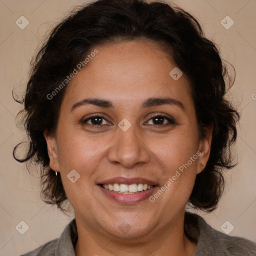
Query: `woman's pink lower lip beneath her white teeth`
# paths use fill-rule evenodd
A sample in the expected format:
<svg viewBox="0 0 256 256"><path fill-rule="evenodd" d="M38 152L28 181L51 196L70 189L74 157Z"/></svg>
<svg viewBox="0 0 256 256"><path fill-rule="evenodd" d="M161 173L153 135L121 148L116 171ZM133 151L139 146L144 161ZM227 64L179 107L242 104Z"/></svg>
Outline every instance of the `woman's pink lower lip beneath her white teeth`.
<svg viewBox="0 0 256 256"><path fill-rule="evenodd" d="M156 185L148 190L143 190L141 192L138 192L136 194L121 194L115 191L110 191L109 189L105 189L102 186L98 185L98 187L101 189L101 191L106 194L107 196L111 197L117 202L124 203L124 204L131 204L140 202L146 198L149 198L149 196L154 192Z"/></svg>

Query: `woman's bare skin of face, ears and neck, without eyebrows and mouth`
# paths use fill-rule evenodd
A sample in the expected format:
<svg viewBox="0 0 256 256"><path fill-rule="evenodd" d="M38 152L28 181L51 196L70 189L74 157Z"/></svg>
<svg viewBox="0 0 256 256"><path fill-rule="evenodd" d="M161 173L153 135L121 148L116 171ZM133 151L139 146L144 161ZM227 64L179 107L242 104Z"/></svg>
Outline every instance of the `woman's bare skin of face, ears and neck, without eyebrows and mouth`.
<svg viewBox="0 0 256 256"><path fill-rule="evenodd" d="M193 255L196 243L183 231L184 208L201 163L205 166L208 160L211 136L199 139L188 81L185 75L172 79L169 72L176 65L156 42L96 48L99 52L66 88L55 136L44 133L50 167L60 172L74 208L75 255ZM184 109L175 104L141 108L147 98L166 96ZM77 101L96 97L114 107L87 104L70 111ZM105 118L98 127L92 124L95 119L80 122L94 113ZM157 125L152 114L167 115L175 123L163 119ZM123 118L131 123L127 131L118 127ZM119 203L97 185L123 176L147 178L160 188L196 152L198 158L154 202ZM67 178L72 169L80 174L75 183ZM127 232L118 228L123 221Z"/></svg>

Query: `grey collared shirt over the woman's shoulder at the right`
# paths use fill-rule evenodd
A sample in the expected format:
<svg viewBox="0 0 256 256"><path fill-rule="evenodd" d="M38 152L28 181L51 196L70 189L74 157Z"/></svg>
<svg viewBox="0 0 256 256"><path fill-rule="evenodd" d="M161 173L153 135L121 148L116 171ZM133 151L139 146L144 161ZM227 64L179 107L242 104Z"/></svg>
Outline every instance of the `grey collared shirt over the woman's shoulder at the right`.
<svg viewBox="0 0 256 256"><path fill-rule="evenodd" d="M256 243L243 237L222 233L206 223L199 215L185 214L188 237L197 241L194 256L225 255L255 256Z"/></svg>

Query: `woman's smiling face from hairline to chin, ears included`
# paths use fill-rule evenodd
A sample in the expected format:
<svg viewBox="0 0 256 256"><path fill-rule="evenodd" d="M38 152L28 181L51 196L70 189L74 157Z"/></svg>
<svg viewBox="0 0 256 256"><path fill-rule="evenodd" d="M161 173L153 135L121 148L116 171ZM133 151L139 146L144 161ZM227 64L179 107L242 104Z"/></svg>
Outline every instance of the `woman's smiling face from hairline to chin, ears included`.
<svg viewBox="0 0 256 256"><path fill-rule="evenodd" d="M56 136L45 135L76 221L91 232L140 237L175 223L208 159L188 81L170 76L176 65L159 47L96 47L67 85Z"/></svg>

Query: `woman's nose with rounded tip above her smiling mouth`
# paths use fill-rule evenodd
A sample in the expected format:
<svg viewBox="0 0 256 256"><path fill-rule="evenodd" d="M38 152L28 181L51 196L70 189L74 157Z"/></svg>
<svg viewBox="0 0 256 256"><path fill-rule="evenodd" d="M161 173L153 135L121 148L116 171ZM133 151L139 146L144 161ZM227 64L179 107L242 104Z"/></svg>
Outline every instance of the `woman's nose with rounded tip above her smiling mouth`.
<svg viewBox="0 0 256 256"><path fill-rule="evenodd" d="M126 168L132 168L139 163L147 163L150 160L149 148L145 144L145 134L135 132L134 125L123 131L119 127L111 140L108 151L108 160L112 163L120 163Z"/></svg>

